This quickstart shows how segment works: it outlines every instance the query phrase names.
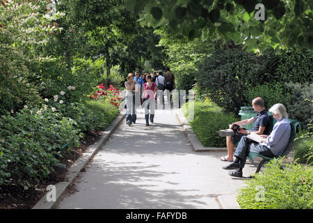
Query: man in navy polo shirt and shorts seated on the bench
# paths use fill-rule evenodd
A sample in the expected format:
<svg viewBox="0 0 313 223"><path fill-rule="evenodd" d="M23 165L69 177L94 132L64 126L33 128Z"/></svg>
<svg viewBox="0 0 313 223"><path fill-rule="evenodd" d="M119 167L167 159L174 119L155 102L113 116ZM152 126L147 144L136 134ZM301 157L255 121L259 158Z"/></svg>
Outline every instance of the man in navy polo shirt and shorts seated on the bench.
<svg viewBox="0 0 313 223"><path fill-rule="evenodd" d="M264 100L260 97L257 97L252 100L252 107L257 112L257 114L252 117L242 121L237 121L236 123L232 123L230 129L228 130L220 130L218 134L220 137L226 137L226 146L227 146L227 155L224 157L220 157L222 161L233 161L234 155L234 144L240 141L241 137L250 134L253 132L255 134L268 134L268 130L271 129L271 120L266 112L264 107ZM253 123L253 128L251 130L246 130L240 125L249 125Z"/></svg>

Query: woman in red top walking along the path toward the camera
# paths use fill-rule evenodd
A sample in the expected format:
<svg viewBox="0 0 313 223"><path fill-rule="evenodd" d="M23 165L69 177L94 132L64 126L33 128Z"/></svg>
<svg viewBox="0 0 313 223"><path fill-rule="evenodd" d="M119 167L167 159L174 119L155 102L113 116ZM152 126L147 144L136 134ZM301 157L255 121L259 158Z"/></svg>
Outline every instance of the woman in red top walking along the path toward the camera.
<svg viewBox="0 0 313 223"><path fill-rule="evenodd" d="M145 106L145 125L149 125L149 108L150 108L150 122L153 123L155 98L157 96L157 84L152 82L151 75L145 77L147 83L143 84L143 106Z"/></svg>

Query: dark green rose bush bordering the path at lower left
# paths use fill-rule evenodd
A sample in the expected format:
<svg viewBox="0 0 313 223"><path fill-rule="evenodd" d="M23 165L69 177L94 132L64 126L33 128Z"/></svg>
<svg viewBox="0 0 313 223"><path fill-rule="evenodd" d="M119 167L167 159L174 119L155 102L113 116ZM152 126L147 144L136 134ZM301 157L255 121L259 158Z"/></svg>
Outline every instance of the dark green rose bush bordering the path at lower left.
<svg viewBox="0 0 313 223"><path fill-rule="evenodd" d="M79 145L75 121L44 107L26 107L0 117L0 186L12 183L30 187L53 170L60 149Z"/></svg>

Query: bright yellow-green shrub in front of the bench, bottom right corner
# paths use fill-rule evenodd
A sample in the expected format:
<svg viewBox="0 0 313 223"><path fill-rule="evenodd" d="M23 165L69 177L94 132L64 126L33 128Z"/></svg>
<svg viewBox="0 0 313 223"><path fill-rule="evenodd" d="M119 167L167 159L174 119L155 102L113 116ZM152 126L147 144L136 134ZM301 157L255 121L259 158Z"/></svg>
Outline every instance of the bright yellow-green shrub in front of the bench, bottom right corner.
<svg viewBox="0 0 313 223"><path fill-rule="evenodd" d="M263 173L239 190L237 201L244 209L313 208L313 169L290 163L282 170L282 160L266 164Z"/></svg>

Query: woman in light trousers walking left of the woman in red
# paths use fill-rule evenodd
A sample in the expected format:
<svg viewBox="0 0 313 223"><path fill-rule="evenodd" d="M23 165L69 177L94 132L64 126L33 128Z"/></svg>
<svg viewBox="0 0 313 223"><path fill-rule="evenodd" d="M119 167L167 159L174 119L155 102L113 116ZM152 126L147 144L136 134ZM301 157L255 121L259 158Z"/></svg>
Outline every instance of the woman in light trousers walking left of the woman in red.
<svg viewBox="0 0 313 223"><path fill-rule="evenodd" d="M127 82L125 82L126 87L126 107L127 116L126 123L131 125L136 123L136 106L135 106L135 92L138 89L138 84L134 80L134 75L130 72L127 76Z"/></svg>

